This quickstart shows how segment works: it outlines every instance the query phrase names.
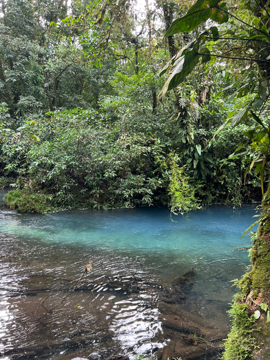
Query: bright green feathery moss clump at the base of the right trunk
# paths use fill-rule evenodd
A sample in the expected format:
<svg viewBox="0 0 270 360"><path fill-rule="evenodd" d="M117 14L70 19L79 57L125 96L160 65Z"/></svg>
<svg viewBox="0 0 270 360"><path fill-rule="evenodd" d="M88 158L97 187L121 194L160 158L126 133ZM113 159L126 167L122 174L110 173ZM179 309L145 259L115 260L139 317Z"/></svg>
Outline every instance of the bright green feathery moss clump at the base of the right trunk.
<svg viewBox="0 0 270 360"><path fill-rule="evenodd" d="M239 294L236 294L229 310L229 315L233 320L231 331L225 339L225 351L221 357L223 360L246 359L257 347L255 338L252 336L254 316L249 317L246 313L248 304L239 301L241 301Z"/></svg>

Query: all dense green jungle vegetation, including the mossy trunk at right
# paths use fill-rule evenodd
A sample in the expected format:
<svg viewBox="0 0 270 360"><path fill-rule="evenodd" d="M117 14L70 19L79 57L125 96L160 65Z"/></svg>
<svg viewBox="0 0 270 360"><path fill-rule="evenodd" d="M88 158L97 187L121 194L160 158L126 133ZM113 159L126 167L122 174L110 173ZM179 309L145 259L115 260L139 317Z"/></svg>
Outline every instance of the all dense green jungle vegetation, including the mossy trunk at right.
<svg viewBox="0 0 270 360"><path fill-rule="evenodd" d="M11 208L184 212L262 199L225 360L261 344L270 356L268 5L1 1L0 186L14 187Z"/></svg>

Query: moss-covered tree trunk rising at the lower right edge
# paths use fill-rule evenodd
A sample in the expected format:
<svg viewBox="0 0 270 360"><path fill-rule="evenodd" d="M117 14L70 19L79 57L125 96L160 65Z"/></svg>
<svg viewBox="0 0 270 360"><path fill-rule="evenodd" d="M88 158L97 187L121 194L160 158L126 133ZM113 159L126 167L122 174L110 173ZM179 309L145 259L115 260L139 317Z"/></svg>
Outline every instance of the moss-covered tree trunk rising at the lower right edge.
<svg viewBox="0 0 270 360"><path fill-rule="evenodd" d="M261 207L259 227L253 237L251 249L251 269L239 281L238 287L241 293L237 294L230 310L233 322L231 332L225 341L225 351L222 356L224 360L245 358L268 360L266 350L270 345L268 338L270 323L266 323L266 313L261 310L260 303L266 303L270 309L270 183L263 196ZM237 309L241 305L244 306L244 310L239 313ZM253 316L255 310L261 311L259 320L255 320ZM237 321L238 317L241 321ZM263 331L258 331L258 327ZM250 334L248 346L245 343L247 334ZM265 356L258 357L264 352Z"/></svg>

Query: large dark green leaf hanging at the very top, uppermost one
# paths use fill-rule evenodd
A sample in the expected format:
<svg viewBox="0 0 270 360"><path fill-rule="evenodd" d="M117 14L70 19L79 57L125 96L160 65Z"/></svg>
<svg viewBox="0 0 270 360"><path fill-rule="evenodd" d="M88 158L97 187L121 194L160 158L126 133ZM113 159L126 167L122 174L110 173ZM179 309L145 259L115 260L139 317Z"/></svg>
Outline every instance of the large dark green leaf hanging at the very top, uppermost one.
<svg viewBox="0 0 270 360"><path fill-rule="evenodd" d="M223 23L228 21L228 13L225 12L225 3L218 3L220 0L197 0L197 2L190 7L187 13L177 18L172 22L164 36L173 35L178 32L188 32L193 30L201 22L207 19L212 19L217 23ZM223 11L223 9L225 11Z"/></svg>

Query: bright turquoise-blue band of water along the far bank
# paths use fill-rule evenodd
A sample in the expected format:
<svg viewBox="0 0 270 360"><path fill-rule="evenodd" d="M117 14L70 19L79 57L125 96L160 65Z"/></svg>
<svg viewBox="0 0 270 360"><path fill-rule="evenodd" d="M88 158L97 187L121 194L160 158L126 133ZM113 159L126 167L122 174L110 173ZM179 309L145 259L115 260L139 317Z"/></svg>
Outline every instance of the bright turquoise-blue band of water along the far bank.
<svg viewBox="0 0 270 360"><path fill-rule="evenodd" d="M173 222L165 208L65 211L45 215L7 210L1 214L0 232L47 243L123 250L140 248L142 252L175 250L191 258L197 254L215 257L242 243L239 237L253 222L254 214L250 205L237 209L209 206L188 215L173 216Z"/></svg>

